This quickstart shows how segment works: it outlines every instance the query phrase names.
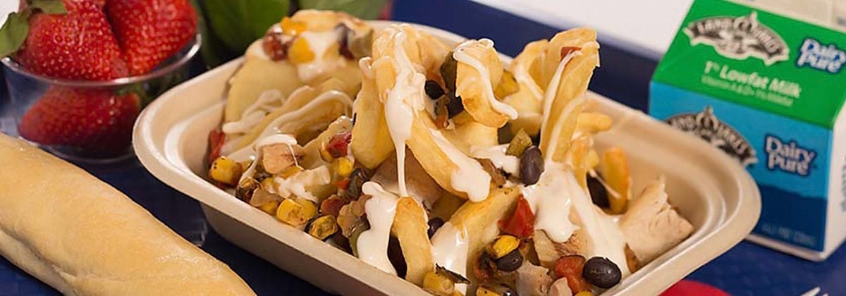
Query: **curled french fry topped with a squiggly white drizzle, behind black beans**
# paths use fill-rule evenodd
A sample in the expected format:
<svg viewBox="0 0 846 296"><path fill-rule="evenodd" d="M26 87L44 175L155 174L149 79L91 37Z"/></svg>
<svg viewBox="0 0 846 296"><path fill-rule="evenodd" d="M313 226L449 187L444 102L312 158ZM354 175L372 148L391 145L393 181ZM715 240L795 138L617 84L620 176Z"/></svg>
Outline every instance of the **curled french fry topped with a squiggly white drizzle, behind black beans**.
<svg viewBox="0 0 846 296"><path fill-rule="evenodd" d="M493 44L484 41L465 41L453 52L458 62L455 71L455 96L461 96L464 110L479 123L500 128L517 111L493 95L503 76L503 64Z"/></svg>

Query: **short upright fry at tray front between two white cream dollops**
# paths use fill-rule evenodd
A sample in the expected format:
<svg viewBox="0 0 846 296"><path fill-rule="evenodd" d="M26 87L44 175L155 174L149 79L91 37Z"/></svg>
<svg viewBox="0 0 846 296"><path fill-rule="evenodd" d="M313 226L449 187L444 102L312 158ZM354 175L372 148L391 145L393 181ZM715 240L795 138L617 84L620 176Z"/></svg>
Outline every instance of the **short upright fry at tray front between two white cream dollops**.
<svg viewBox="0 0 846 296"><path fill-rule="evenodd" d="M410 197L399 199L391 233L397 237L399 246L403 249L407 266L405 279L418 286L423 284L426 272L435 270L428 230L426 211L420 204Z"/></svg>

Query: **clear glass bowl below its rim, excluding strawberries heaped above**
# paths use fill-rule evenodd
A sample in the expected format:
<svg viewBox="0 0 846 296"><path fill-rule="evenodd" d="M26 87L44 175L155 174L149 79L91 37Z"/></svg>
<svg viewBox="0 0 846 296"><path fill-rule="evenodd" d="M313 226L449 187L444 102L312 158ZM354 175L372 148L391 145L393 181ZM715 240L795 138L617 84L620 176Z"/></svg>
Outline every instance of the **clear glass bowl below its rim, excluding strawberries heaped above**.
<svg viewBox="0 0 846 296"><path fill-rule="evenodd" d="M189 77L201 47L197 34L151 72L112 80L56 79L2 58L12 134L74 162L109 163L132 156L132 127L140 110Z"/></svg>

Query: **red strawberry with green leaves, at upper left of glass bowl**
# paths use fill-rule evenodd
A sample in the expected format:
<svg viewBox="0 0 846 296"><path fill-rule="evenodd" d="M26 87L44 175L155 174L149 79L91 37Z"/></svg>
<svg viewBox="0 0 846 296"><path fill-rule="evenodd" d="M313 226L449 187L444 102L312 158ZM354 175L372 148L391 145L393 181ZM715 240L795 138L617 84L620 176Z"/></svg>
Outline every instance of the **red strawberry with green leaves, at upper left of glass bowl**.
<svg viewBox="0 0 846 296"><path fill-rule="evenodd" d="M91 0L28 0L0 29L0 56L16 52L25 69L62 79L129 74L106 14Z"/></svg>

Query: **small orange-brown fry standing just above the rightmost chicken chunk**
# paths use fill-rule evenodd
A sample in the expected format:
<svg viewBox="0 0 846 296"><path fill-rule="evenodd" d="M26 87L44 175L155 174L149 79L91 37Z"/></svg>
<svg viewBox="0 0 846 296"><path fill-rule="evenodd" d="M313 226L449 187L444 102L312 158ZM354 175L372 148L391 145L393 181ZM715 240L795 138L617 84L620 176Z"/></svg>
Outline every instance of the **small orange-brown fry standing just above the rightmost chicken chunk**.
<svg viewBox="0 0 846 296"><path fill-rule="evenodd" d="M614 191L609 193L608 203L613 214L622 214L631 196L631 176L629 175L629 163L622 148L614 147L602 154L600 164L602 177L608 187Z"/></svg>

